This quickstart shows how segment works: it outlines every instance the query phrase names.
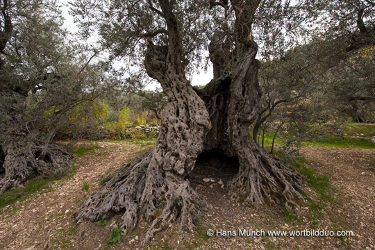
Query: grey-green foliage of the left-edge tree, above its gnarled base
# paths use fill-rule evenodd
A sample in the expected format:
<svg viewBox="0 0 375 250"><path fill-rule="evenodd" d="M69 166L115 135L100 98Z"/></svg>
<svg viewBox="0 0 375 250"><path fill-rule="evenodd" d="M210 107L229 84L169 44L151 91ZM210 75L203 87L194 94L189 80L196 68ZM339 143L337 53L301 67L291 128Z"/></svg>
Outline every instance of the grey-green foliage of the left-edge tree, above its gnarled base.
<svg viewBox="0 0 375 250"><path fill-rule="evenodd" d="M4 11L13 32L0 58L0 144L94 133L108 119L99 96L113 83L62 28L58 3L15 1Z"/></svg>

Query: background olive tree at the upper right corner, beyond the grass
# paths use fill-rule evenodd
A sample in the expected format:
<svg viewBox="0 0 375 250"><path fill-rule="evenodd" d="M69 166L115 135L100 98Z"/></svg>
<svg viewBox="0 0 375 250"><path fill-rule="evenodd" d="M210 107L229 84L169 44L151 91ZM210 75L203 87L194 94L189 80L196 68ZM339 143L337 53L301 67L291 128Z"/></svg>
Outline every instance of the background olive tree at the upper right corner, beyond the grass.
<svg viewBox="0 0 375 250"><path fill-rule="evenodd" d="M341 62L326 75L327 106L336 106L353 122L374 121L374 1L317 1L326 18L317 29L315 40L324 40L324 48L334 48ZM319 49L319 50L322 50ZM334 101L334 103L332 103Z"/></svg>

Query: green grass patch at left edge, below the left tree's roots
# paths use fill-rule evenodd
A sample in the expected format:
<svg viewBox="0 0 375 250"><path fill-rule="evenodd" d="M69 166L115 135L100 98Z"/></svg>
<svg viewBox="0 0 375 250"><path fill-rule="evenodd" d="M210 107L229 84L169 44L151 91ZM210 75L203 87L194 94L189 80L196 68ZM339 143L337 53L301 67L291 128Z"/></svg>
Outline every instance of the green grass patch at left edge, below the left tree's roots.
<svg viewBox="0 0 375 250"><path fill-rule="evenodd" d="M15 188L0 194L0 208L15 203L16 201L26 200L30 194L42 190L48 183L55 180L56 177L34 179L33 181L29 181L24 188Z"/></svg>

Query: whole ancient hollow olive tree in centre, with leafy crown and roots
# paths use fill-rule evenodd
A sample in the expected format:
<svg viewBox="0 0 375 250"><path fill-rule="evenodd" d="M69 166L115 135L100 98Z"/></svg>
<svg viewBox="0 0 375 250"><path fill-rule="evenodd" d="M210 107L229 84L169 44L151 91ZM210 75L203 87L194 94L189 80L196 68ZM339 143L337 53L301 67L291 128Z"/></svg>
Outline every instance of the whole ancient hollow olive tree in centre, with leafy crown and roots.
<svg viewBox="0 0 375 250"><path fill-rule="evenodd" d="M263 151L249 135L261 96L252 24L266 3L149 0L75 4L83 34L97 24L101 44L110 48L111 58L127 56L136 62L143 56L147 74L160 83L169 99L153 151L135 157L91 194L75 213L78 222L97 221L111 211L121 211L122 226L131 230L143 216L151 222L144 243L172 222L181 230L192 228L193 217L205 201L187 176L203 151L238 158L239 171L228 183L233 199L252 208L279 203L299 209L303 202L300 176ZM210 28L211 20L222 25ZM197 90L186 73L208 39L214 78Z"/></svg>

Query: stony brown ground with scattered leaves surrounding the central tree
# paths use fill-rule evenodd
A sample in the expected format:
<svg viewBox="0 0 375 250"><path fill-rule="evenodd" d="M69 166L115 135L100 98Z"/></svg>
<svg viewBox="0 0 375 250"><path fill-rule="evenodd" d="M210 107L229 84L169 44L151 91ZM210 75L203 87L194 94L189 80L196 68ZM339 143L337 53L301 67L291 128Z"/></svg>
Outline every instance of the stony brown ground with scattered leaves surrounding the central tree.
<svg viewBox="0 0 375 250"><path fill-rule="evenodd" d="M147 230L140 221L113 247L106 243L121 214L99 226L77 225L73 213L88 193L153 141L85 142L76 151L74 169L48 183L24 201L0 210L0 249L375 249L374 149L304 147L296 166L308 176L306 203L300 215L281 207L250 210L226 195L226 183L237 171L231 160L206 156L198 161L191 183L208 201L194 231L180 235L176 226L158 233L149 247L139 247ZM328 178L327 178L328 177ZM203 180L205 179L205 180ZM328 185L329 179L329 185ZM105 180L105 178L104 178ZM215 232L209 237L206 232ZM248 231L352 231L348 237L240 236ZM220 236L216 231L237 235Z"/></svg>

